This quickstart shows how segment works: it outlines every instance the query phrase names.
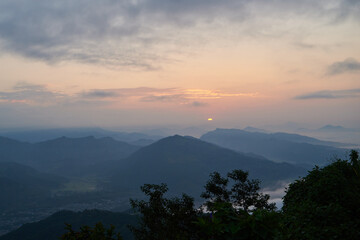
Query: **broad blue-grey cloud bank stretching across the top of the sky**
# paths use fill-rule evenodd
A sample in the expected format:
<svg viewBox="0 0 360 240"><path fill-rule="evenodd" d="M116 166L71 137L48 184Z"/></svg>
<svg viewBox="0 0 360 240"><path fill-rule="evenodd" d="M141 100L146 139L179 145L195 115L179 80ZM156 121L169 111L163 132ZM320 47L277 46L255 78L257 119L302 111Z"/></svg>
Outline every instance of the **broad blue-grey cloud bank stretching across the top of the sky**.
<svg viewBox="0 0 360 240"><path fill-rule="evenodd" d="M2 0L0 47L50 64L149 71L174 62L170 52L196 51L196 38L212 41L206 34L213 29L220 31L214 36L227 29L271 35L274 25L288 32L277 23L289 19L358 19L359 6L356 0Z"/></svg>

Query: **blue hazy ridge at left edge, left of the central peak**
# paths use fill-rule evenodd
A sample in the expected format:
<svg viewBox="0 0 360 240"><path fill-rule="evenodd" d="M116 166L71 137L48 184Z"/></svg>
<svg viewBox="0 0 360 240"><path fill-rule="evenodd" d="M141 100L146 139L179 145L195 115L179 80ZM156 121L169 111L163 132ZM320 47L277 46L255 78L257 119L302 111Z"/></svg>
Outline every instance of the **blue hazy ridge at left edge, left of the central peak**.
<svg viewBox="0 0 360 240"><path fill-rule="evenodd" d="M0 138L0 161L19 162L64 176L79 176L94 174L101 170L101 163L120 160L138 149L138 146L110 137L61 137L34 144Z"/></svg>

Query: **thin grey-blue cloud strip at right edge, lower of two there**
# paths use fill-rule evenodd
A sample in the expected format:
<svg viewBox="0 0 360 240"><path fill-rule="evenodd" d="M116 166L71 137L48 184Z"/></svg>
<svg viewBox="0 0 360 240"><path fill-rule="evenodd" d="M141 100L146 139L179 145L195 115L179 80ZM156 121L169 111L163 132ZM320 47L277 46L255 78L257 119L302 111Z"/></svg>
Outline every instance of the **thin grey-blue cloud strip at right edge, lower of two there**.
<svg viewBox="0 0 360 240"><path fill-rule="evenodd" d="M294 99L339 99L360 97L360 88L347 90L324 90L296 96Z"/></svg>

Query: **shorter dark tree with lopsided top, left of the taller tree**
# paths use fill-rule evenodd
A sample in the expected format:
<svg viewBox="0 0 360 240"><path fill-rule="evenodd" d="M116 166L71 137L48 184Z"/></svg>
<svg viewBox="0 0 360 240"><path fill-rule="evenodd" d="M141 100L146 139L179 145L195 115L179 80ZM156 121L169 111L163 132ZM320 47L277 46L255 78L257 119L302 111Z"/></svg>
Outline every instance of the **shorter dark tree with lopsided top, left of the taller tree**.
<svg viewBox="0 0 360 240"><path fill-rule="evenodd" d="M167 199L166 184L145 184L141 190L149 200L130 200L133 209L140 213L138 226L130 226L136 239L195 239L193 222L197 211L194 199L186 194L181 198Z"/></svg>

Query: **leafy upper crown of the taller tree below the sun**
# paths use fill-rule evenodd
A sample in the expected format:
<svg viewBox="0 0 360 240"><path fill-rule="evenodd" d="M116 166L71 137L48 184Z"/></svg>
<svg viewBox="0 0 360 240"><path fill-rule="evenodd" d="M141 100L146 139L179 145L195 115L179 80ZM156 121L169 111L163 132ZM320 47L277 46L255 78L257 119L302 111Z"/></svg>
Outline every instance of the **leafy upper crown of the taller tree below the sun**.
<svg viewBox="0 0 360 240"><path fill-rule="evenodd" d="M270 198L267 194L259 193L260 181L248 179L249 173L235 169L227 174L227 178L221 177L218 172L210 174L210 180L205 185L205 192L201 197L208 199L205 206L213 210L215 203L231 203L236 209L245 212L257 209L275 210L275 204L268 203ZM228 183L232 183L230 190Z"/></svg>

